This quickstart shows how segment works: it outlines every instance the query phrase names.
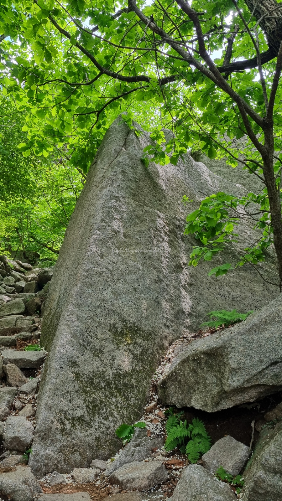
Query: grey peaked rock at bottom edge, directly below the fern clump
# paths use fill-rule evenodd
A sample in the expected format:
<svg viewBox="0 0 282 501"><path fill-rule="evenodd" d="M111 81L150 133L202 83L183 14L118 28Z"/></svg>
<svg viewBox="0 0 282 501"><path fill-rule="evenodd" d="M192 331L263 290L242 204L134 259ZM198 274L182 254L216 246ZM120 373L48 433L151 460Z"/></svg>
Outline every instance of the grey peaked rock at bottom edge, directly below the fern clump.
<svg viewBox="0 0 282 501"><path fill-rule="evenodd" d="M199 464L189 464L182 471L171 497L172 501L235 501L236 499L227 483L217 480Z"/></svg>

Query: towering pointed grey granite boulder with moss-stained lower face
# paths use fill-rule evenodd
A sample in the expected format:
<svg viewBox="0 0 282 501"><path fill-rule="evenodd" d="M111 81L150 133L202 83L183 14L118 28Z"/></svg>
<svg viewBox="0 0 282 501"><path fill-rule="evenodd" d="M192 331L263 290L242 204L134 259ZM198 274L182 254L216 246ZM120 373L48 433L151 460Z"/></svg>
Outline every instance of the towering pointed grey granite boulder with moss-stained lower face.
<svg viewBox="0 0 282 501"><path fill-rule="evenodd" d="M237 188L232 175L224 181L189 155L177 166L146 168L140 158L150 141L124 122L111 125L66 231L42 326L50 353L30 456L39 476L89 467L118 450L114 430L138 419L160 355L205 313L255 309L277 294L251 268L218 281L207 277L210 263L187 267L195 240L183 236L186 211L201 193ZM184 194L194 200L189 209ZM256 239L241 229L227 262L246 237Z"/></svg>

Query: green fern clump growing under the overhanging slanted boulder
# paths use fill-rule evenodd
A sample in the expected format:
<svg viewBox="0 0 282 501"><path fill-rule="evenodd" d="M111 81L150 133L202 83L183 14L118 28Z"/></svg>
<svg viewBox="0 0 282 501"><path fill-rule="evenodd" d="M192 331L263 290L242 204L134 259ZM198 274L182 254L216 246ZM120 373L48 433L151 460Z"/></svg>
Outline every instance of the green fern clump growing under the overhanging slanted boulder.
<svg viewBox="0 0 282 501"><path fill-rule="evenodd" d="M171 408L172 409L172 408ZM167 439L165 448L167 451L180 447L181 452L187 454L191 463L196 463L202 454L211 447L210 436L206 432L203 421L198 418L192 419L192 424L187 425L180 419L183 412L172 414L167 420Z"/></svg>

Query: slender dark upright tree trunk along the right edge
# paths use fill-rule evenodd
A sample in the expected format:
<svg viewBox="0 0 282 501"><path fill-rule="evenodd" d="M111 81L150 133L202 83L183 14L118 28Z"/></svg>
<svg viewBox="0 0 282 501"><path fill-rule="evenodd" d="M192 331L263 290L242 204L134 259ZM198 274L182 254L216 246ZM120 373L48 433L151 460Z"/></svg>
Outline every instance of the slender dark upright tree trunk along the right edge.
<svg viewBox="0 0 282 501"><path fill-rule="evenodd" d="M280 191L276 187L273 168L273 127L264 129L264 146L266 149L263 155L263 174L268 193L269 208L271 214L271 225L273 228L273 243L277 257L280 288L282 284L282 217Z"/></svg>

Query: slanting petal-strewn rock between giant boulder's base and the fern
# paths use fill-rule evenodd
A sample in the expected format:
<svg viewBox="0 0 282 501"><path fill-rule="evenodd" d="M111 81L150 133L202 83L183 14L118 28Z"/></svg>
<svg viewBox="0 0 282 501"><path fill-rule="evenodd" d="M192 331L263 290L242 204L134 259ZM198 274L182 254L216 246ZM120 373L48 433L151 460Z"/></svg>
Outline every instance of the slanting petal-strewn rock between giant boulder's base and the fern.
<svg viewBox="0 0 282 501"><path fill-rule="evenodd" d="M132 461L147 459L152 449L161 449L164 439L161 437L151 438L147 436L145 428L136 428L130 442L122 450L121 454L109 465L104 476L110 476L117 468Z"/></svg>

